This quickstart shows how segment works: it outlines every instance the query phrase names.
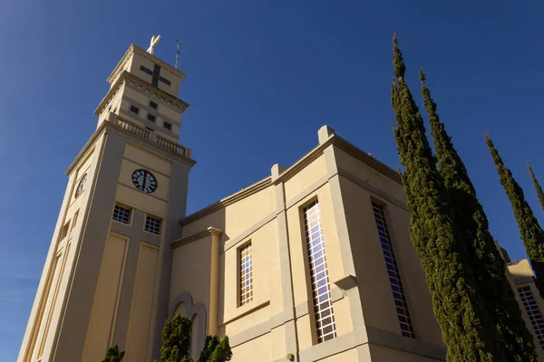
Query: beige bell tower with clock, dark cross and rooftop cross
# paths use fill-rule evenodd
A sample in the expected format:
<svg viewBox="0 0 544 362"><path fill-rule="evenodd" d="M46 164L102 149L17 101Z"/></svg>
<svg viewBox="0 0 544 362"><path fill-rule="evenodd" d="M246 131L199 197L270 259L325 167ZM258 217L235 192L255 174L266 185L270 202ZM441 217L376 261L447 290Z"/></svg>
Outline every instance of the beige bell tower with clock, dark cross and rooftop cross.
<svg viewBox="0 0 544 362"><path fill-rule="evenodd" d="M181 236L195 161L178 143L185 74L153 55L159 42L125 52L97 129L66 171L20 362L97 362L112 343L144 362L160 344L170 241Z"/></svg>

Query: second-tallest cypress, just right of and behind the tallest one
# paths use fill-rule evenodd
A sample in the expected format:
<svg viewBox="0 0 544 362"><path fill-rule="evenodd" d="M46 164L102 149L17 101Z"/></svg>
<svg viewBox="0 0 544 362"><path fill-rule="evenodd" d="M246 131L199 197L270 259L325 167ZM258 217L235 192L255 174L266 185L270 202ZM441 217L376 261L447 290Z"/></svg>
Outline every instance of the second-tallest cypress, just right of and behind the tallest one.
<svg viewBox="0 0 544 362"><path fill-rule="evenodd" d="M506 263L500 257L491 236L487 216L476 197L476 189L468 171L436 113L436 103L431 98L431 91L425 86L425 78L425 73L420 71L421 90L425 110L429 115L438 170L448 190L453 222L458 226L461 240L467 249L472 275L507 360L534 361L537 356L533 338L521 317L520 304L506 277Z"/></svg>

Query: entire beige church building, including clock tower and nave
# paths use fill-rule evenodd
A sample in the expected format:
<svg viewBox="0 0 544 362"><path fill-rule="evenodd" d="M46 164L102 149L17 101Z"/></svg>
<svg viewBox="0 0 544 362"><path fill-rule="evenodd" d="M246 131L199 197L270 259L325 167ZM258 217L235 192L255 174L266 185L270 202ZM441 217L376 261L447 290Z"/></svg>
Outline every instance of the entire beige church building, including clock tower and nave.
<svg viewBox="0 0 544 362"><path fill-rule="evenodd" d="M294 165L186 215L185 74L152 52L124 54L66 171L18 361L97 362L117 343L145 362L177 313L195 359L217 334L233 361L445 360L398 174L324 126ZM544 343L523 265L510 281Z"/></svg>

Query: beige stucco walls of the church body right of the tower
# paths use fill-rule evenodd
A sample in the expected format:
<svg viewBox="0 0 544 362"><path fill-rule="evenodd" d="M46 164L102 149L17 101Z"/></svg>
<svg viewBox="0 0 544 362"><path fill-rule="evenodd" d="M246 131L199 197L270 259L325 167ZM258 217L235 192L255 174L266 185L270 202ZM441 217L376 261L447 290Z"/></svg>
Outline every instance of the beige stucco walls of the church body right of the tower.
<svg viewBox="0 0 544 362"><path fill-rule="evenodd" d="M231 338L234 361L281 360L287 353L296 352L288 343L293 338L296 338L296 348L304 351L301 360L310 356L321 356L319 360L327 361L433 360L423 356L424 346L443 349L441 331L433 317L424 273L410 241L403 186L391 172L386 175L334 144L328 146L332 152L329 155L333 157L325 156L326 149L313 150L306 155L308 160L303 157L297 161L295 171L280 170L279 181L275 181L274 177L278 176L274 176L273 171L273 186L251 195L229 196L219 205L210 206L209 211L204 209L196 213L198 216L189 216L190 221L182 223L181 244L174 249L170 300L188 292L194 303L203 303L207 309L213 302L209 300L209 288L204 285L212 268L209 257L195 262L190 255L209 254L211 236L195 239L192 235L215 227L223 232L219 251L218 332L220 336ZM282 173L288 176L281 176ZM331 184L334 177L337 184ZM337 338L319 345L316 344L303 215L306 205L316 200L325 239L337 334ZM406 351L405 341L399 343L405 337L401 335L393 303L371 200L385 207L417 336L416 340L406 339L417 344L419 352L415 354ZM286 220L285 228L280 223L282 217ZM343 223L347 225L347 233L341 229ZM286 242L287 259L281 252ZM239 247L247 243L252 244L254 299L240 307L238 252ZM343 291L335 281L345 281L351 272L356 274L355 290ZM198 278L189 278L189 273ZM285 276L290 279L288 284L282 284ZM290 302L290 292L286 287L282 289L282 285L292 286ZM362 311L357 312L361 306ZM293 324L289 324L291 319L287 317L290 309L295 310ZM358 319L361 312L364 318ZM358 329L361 322L371 329L374 337L367 337L364 330ZM375 338L376 333L393 333L396 341L388 342L390 348L376 348L377 357L371 357L374 342L367 340L358 345L353 338L363 341ZM390 357L393 359L383 359Z"/></svg>

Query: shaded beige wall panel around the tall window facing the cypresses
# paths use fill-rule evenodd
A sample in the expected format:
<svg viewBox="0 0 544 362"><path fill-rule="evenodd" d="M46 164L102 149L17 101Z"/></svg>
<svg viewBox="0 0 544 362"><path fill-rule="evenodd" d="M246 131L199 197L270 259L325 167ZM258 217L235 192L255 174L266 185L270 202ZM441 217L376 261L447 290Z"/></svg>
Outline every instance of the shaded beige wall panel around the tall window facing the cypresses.
<svg viewBox="0 0 544 362"><path fill-rule="evenodd" d="M409 214L403 207L371 193L345 177L340 177L340 185L354 253L364 323L393 333L401 333L385 269L384 253L374 222L372 208L374 201L384 206L415 334L425 342L442 345L442 333L432 313L431 295L421 262L417 258L408 233ZM381 189L384 190L384 186L381 186Z"/></svg>

